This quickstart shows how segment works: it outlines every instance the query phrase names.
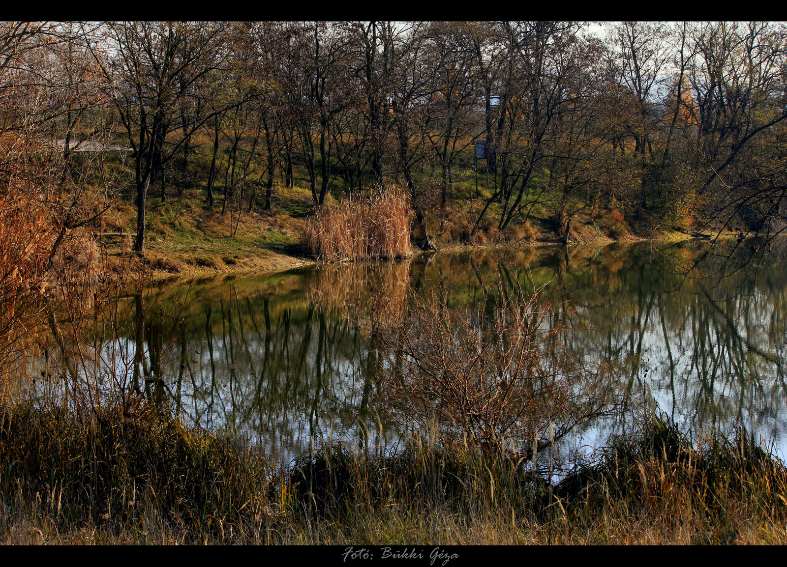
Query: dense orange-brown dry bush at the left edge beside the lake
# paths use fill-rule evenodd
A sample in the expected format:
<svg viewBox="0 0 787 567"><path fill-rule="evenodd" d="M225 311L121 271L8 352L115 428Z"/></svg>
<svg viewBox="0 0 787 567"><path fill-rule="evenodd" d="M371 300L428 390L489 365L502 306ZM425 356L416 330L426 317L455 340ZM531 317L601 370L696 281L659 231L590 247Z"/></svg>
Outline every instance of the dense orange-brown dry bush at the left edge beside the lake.
<svg viewBox="0 0 787 567"><path fill-rule="evenodd" d="M47 148L29 132L15 134L0 163L2 374L13 371L42 330L52 326L54 305L93 295L106 267L91 233L76 227L83 194L64 194L52 182L57 164ZM0 397L5 387L0 379Z"/></svg>

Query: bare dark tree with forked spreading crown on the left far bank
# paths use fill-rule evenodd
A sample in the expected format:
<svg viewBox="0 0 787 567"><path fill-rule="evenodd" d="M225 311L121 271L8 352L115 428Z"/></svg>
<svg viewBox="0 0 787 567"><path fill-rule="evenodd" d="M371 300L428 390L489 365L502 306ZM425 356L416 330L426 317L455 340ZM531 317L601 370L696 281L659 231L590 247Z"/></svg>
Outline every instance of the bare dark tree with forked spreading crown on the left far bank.
<svg viewBox="0 0 787 567"><path fill-rule="evenodd" d="M96 53L133 149L139 252L145 246L147 193L155 172L205 122L239 104L227 88L224 100L191 120L185 130L178 120L181 110L193 109L203 83L215 81L227 70L229 52L223 41L228 28L215 23L109 24L114 52Z"/></svg>

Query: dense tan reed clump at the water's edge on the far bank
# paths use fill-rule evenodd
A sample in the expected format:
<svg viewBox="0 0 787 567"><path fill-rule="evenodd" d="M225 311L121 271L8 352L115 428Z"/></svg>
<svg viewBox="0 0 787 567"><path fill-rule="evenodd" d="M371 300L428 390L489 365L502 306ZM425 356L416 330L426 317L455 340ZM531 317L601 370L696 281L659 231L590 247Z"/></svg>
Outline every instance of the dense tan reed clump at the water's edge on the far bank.
<svg viewBox="0 0 787 567"><path fill-rule="evenodd" d="M304 223L301 247L318 260L390 260L412 255L412 211L399 189L323 208Z"/></svg>

